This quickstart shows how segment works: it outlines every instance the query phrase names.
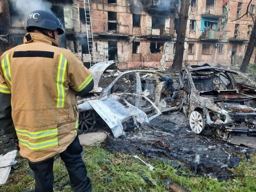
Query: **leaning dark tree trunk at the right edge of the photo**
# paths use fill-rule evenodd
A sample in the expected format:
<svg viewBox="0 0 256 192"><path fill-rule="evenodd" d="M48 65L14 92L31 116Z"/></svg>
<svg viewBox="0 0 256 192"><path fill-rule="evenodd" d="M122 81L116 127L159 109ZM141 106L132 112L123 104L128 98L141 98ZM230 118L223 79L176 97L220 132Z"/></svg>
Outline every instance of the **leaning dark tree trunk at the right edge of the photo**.
<svg viewBox="0 0 256 192"><path fill-rule="evenodd" d="M254 22L252 33L250 35L250 40L248 42L247 49L244 54L244 59L243 59L242 65L240 67L241 72L244 72L244 73L246 72L247 67L250 63L250 59L252 57L252 53L253 53L253 49L254 49L255 45L256 45L256 22Z"/></svg>

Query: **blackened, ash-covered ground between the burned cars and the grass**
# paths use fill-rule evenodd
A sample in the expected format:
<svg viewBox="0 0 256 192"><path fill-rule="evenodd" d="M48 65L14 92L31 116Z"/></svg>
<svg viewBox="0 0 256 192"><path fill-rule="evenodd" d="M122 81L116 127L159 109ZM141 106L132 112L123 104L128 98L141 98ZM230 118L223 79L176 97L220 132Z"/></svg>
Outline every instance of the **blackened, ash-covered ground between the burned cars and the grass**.
<svg viewBox="0 0 256 192"><path fill-rule="evenodd" d="M232 177L228 168L239 165L242 158L238 154L244 154L246 158L246 153L250 156L256 152L255 148L221 141L214 137L210 129L205 129L201 135L191 132L188 120L183 113L177 112L158 116L150 124L142 125L120 138L113 138L110 134L105 144L111 152L143 154L163 159L179 168L175 162L178 160L186 164L185 170L193 171L193 175L211 175L219 180Z"/></svg>

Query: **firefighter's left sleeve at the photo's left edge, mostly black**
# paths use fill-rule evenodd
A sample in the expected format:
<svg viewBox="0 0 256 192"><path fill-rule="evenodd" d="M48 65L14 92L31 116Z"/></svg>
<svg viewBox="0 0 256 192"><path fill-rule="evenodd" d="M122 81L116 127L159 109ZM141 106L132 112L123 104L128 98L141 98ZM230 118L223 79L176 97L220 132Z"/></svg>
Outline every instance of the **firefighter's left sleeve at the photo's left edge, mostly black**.
<svg viewBox="0 0 256 192"><path fill-rule="evenodd" d="M16 131L12 121L11 92L0 67L0 127L8 138L15 138Z"/></svg>

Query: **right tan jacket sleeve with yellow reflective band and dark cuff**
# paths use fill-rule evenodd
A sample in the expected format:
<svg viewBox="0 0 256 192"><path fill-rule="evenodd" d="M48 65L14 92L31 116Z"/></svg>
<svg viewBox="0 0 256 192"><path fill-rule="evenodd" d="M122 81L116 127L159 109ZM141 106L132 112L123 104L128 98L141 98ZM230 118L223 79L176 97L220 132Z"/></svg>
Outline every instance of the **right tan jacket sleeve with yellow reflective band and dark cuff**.
<svg viewBox="0 0 256 192"><path fill-rule="evenodd" d="M88 68L84 67L83 62L80 61L72 52L67 60L68 77L70 87L79 96L89 93L94 86L93 76Z"/></svg>

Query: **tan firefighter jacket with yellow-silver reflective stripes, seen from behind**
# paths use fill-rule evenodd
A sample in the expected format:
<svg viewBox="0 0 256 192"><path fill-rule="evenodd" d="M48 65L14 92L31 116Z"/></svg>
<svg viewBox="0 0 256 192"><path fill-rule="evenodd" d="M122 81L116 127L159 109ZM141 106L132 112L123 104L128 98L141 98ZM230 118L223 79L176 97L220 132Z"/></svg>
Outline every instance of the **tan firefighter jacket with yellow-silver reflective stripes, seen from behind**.
<svg viewBox="0 0 256 192"><path fill-rule="evenodd" d="M29 161L63 152L77 134L76 93L83 96L93 88L90 71L71 51L39 33L26 34L24 44L0 60L0 127L9 136L15 127L20 155Z"/></svg>

